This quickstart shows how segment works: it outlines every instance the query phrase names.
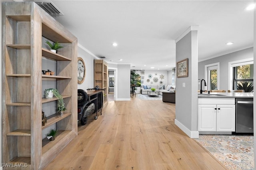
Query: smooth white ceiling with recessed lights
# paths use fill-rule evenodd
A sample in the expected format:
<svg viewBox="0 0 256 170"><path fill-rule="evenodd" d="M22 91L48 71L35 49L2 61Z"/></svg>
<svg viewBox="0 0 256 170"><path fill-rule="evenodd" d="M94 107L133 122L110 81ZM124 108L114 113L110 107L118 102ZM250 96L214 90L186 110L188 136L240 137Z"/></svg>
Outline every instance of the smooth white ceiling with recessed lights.
<svg viewBox="0 0 256 170"><path fill-rule="evenodd" d="M64 13L55 19L80 47L105 56L108 63L131 64L131 69L175 67L175 40L190 26L199 26L198 61L253 46L253 10L245 10L253 0L52 2Z"/></svg>

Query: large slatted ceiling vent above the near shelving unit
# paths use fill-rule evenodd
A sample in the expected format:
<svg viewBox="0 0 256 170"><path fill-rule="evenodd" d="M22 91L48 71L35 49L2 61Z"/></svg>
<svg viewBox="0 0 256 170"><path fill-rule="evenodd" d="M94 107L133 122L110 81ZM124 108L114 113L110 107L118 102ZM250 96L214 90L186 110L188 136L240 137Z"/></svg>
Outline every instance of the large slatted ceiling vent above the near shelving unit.
<svg viewBox="0 0 256 170"><path fill-rule="evenodd" d="M52 16L64 15L51 1L34 1Z"/></svg>

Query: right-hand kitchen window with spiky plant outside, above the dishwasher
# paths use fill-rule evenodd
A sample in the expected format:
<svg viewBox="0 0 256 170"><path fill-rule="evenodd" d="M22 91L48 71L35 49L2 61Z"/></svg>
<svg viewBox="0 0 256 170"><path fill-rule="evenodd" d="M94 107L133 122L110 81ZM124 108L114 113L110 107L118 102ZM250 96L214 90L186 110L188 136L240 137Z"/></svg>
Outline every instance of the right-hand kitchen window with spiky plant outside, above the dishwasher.
<svg viewBox="0 0 256 170"><path fill-rule="evenodd" d="M233 90L253 91L253 64L233 67Z"/></svg>

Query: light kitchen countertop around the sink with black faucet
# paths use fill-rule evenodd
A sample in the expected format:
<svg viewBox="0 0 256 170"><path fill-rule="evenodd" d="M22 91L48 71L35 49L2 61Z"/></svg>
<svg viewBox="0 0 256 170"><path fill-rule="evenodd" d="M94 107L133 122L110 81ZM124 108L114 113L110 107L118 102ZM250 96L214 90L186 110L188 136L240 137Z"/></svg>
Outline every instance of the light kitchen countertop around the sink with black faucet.
<svg viewBox="0 0 256 170"><path fill-rule="evenodd" d="M253 97L253 92L252 93L215 93L212 92L210 95L208 93L203 92L203 94L198 93L198 98L252 98Z"/></svg>

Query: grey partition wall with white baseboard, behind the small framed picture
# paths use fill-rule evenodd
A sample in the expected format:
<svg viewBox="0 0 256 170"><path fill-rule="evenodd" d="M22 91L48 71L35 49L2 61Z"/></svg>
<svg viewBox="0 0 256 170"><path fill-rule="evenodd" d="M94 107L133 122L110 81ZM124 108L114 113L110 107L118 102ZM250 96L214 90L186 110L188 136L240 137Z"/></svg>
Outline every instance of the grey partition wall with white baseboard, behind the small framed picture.
<svg viewBox="0 0 256 170"><path fill-rule="evenodd" d="M188 58L188 77L176 77L175 124L191 138L198 138L198 37L196 30L188 32L176 42L176 62L186 58Z"/></svg>

